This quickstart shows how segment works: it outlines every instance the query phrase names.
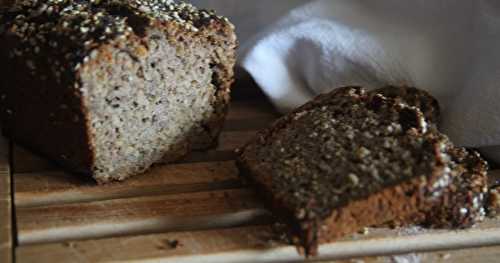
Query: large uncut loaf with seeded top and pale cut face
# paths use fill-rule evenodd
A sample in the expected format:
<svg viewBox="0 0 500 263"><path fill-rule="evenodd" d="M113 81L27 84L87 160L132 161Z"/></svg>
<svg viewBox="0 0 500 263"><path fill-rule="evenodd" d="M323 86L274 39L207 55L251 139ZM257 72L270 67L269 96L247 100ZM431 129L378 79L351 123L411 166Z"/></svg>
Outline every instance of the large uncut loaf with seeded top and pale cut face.
<svg viewBox="0 0 500 263"><path fill-rule="evenodd" d="M4 133L99 182L216 143L234 27L170 0L46 0L0 18Z"/></svg>

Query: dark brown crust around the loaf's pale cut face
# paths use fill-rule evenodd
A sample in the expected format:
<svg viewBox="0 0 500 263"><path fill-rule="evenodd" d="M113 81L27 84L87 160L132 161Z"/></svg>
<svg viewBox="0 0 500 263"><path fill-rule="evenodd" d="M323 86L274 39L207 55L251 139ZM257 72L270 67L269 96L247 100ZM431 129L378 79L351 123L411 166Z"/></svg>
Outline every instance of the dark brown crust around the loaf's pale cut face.
<svg viewBox="0 0 500 263"><path fill-rule="evenodd" d="M77 2L84 3L84 1ZM112 3L113 1L102 2ZM52 4L57 8L57 4ZM63 5L66 4L63 3ZM30 8L23 7L23 9L0 13L0 39L2 40L0 41L0 59L2 61L0 70L4 73L4 76L0 78L0 120L3 133L17 143L54 160L71 171L91 175L94 167L94 147L89 134L86 108L78 88L81 87L79 76L86 63L85 58L91 54L93 49L106 50L110 43L117 41L118 38L100 41L98 40L99 36L93 36L92 39L96 42L90 45L93 49L88 49L83 46L82 41L73 41L62 35L46 34L43 37L50 41L37 44L39 45L39 54L32 52L33 48L31 47L29 52L13 55L15 48L23 49L26 47L26 50L30 50L29 43L22 42L16 34L11 33L12 28L19 28L19 26L13 26L15 17L19 14L27 16L33 12ZM127 9L126 6L121 6L118 11L122 12L125 9ZM130 12L126 14L131 15ZM215 112L203 124L206 128L205 131L201 134L195 134L196 140L188 143L183 142L176 150L167 154L165 160L168 161L181 158L191 149L205 149L217 142L227 114L230 87L233 81L237 45L234 28L227 20L211 12L200 11L199 17L187 17L191 14L196 15L196 11L179 12L179 15L183 16L179 19L165 21L153 18L153 20L157 23L156 26L165 28L167 32L175 30L175 34L189 33L195 37L203 36L212 45L222 46L224 43L232 47L232 50L224 50L224 54L213 54L213 65L216 72L214 84L217 87L217 94L214 102ZM53 17L41 16L40 19L43 21L38 22L48 22ZM179 22L182 19L189 20L191 28L194 25L198 29L186 29L184 26L187 24ZM140 23L139 20L129 17L128 21L134 31L123 42L145 41L141 40L143 37L141 27L146 25ZM77 35L80 34L79 30L71 32ZM214 36L209 37L209 35ZM175 38L175 36L173 37ZM51 43L55 43L57 48L50 46ZM78 55L71 57L68 61L64 56L63 49L71 50ZM106 52L100 54L105 55ZM31 74L31 70L27 66L28 61L33 61L37 69L42 70ZM54 72L50 70L54 61L61 62L63 71L59 72L60 79L56 78Z"/></svg>

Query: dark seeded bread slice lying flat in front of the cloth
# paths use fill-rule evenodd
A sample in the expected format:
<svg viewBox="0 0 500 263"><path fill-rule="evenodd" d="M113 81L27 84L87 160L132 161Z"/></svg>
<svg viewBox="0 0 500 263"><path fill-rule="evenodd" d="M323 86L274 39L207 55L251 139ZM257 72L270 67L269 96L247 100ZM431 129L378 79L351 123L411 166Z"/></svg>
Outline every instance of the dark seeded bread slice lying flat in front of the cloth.
<svg viewBox="0 0 500 263"><path fill-rule="evenodd" d="M363 227L436 223L430 211L449 199L457 166L469 167L450 149L417 108L347 87L279 119L237 152L243 174L315 255L319 243Z"/></svg>

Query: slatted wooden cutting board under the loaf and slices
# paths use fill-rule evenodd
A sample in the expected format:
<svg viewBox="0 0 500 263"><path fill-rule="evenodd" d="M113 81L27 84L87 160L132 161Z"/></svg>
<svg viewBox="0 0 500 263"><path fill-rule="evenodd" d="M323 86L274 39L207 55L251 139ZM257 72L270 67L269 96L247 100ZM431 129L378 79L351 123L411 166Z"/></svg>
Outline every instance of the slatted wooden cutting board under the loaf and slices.
<svg viewBox="0 0 500 263"><path fill-rule="evenodd" d="M235 89L217 149L124 183L97 186L1 138L0 262L303 261L273 241L270 213L238 179L232 150L277 114L253 85ZM351 258L498 262L500 218L464 231L367 229L320 248L319 259Z"/></svg>

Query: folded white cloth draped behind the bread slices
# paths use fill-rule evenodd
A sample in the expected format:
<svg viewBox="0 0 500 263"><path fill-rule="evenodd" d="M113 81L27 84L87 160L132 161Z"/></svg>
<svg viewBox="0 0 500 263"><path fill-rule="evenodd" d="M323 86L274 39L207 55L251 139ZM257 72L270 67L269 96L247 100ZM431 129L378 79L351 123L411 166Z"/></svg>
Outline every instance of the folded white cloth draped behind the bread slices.
<svg viewBox="0 0 500 263"><path fill-rule="evenodd" d="M243 47L282 111L335 87L411 85L440 102L454 142L500 161L500 2L322 0Z"/></svg>

